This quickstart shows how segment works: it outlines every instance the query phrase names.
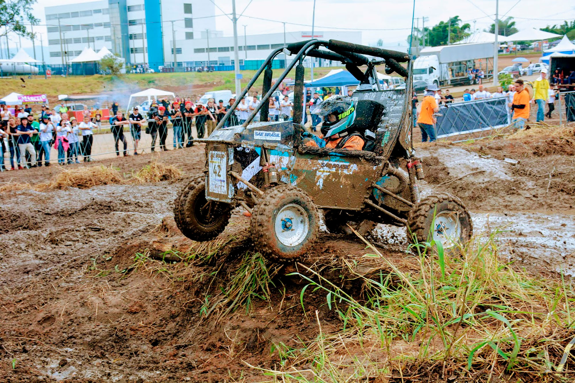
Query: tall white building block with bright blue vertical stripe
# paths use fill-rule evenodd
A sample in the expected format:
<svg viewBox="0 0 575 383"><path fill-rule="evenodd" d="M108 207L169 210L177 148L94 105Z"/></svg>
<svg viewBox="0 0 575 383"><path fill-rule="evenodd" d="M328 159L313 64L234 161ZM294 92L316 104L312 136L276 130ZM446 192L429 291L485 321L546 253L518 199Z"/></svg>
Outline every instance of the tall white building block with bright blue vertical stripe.
<svg viewBox="0 0 575 383"><path fill-rule="evenodd" d="M106 47L128 64L157 71L173 62L174 35L178 54L179 43L216 29L215 6L205 0L99 0L45 7L44 12L52 65L74 59L85 47Z"/></svg>

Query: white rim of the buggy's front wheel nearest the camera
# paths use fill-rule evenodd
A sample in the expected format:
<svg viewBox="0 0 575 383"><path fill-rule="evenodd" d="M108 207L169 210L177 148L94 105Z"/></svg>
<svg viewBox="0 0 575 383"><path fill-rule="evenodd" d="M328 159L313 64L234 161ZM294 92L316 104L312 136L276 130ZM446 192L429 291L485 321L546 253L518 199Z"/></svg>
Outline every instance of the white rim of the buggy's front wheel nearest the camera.
<svg viewBox="0 0 575 383"><path fill-rule="evenodd" d="M285 205L275 216L274 228L279 242L285 246L297 246L308 235L308 213L300 205Z"/></svg>

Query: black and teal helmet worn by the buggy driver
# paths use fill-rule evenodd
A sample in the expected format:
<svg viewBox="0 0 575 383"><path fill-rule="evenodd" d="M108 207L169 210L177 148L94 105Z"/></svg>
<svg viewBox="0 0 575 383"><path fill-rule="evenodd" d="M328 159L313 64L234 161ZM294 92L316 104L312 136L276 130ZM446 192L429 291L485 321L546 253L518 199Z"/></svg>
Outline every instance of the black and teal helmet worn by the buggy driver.
<svg viewBox="0 0 575 383"><path fill-rule="evenodd" d="M355 121L355 105L351 97L341 94L332 95L328 99L321 101L316 109L311 112L318 116L325 116L321 124L321 133L324 138L331 137L339 133L340 136L347 135L347 129ZM335 121L329 121L329 115L335 116ZM345 134L342 134L345 133Z"/></svg>

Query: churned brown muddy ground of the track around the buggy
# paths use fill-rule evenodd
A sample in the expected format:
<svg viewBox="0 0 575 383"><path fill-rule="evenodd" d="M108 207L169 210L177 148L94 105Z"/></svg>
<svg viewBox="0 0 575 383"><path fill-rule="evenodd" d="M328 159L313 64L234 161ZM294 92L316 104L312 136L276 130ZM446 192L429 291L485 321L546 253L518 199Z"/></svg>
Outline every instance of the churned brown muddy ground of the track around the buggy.
<svg viewBox="0 0 575 383"><path fill-rule="evenodd" d="M573 137L567 140L573 143ZM518 158L520 142L528 150L523 148ZM545 139L525 142L417 145L427 175L423 193L459 196L473 215L476 234L503 231L497 236L500 255L516 265L533 273L573 275L573 145L563 140L562 149L537 155ZM504 161L508 157L520 161L513 165ZM105 164L128 174L152 160L197 174L204 165L203 146ZM45 182L58 170L9 171L0 174L0 182ZM316 309L323 332L340 328L321 294L306 294L304 315L300 291L305 282L287 275L293 266L274 269L271 305L255 298L248 313L245 307L232 313L220 308L206 319L206 298L213 302L220 287L229 284L225 275L251 249L249 219L239 210L209 245L221 248L215 258L190 267L140 262L171 249L206 252L205 245L183 238L174 227L173 200L183 182L0 196L0 381L262 381L261 372L246 362L277 367L273 344L315 338ZM370 239L399 267L412 262L403 228L379 225ZM365 253L357 239L322 233L304 264L326 278L343 278L344 289L356 292L361 282L346 280L342 265ZM362 267L355 271L384 268Z"/></svg>

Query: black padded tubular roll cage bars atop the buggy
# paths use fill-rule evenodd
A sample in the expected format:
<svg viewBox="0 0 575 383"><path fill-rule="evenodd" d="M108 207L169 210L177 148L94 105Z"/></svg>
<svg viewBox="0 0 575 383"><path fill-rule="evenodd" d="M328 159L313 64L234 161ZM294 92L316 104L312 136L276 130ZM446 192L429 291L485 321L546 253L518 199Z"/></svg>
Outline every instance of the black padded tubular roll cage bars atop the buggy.
<svg viewBox="0 0 575 383"><path fill-rule="evenodd" d="M319 49L320 47L325 47L329 49L329 51L325 51L323 49ZM287 52L285 52L287 51ZM271 66L273 63L273 59L279 53L296 53L296 56L289 64L286 66L283 73L279 76L277 81L273 86L271 86ZM382 60L369 60L364 55L375 56L381 58ZM379 81L377 80L377 72L375 71L375 66L379 64L385 63L385 72L386 74L391 74L392 72L396 72L397 74L401 75L402 77L408 76L408 70L401 66L400 63L409 62L410 57L407 53L402 53L398 51L391 51L389 49L381 49L375 47L367 47L366 45L359 45L359 44L352 44L346 43L345 41L339 40L306 40L306 41L299 41L298 43L287 44L286 47L279 47L274 49L273 52L267 56L267 59L264 61L262 66L256 71L255 75L252 77L248 85L241 91L239 97L236 95L236 101L233 103L231 108L225 114L224 118L217 124L216 129L220 129L224 126L225 122L229 120L229 117L234 110L239 105L241 99L246 97L248 90L254 85L254 83L258 80L259 76L264 72L264 79L263 79L263 95L262 95L262 102L252 110L250 115L248 116L247 120L242 124L244 128L246 128L250 122L254 119L255 115L262 111L262 118L267 120L267 114L269 112L269 102L266 102L271 95L274 93L275 90L278 89L279 84L282 83L283 79L286 78L287 74L293 69L296 64L298 64L296 68L296 85L294 87L294 133L296 137L300 135L297 134L298 132L296 129L301 131L303 127L301 127L301 116L302 116L302 109L303 106L303 84L304 84L304 67L302 66L302 62L306 56L315 57L315 58L322 58L327 60L336 60L340 61L345 64L346 69L356 78L361 84L369 84L374 83L375 86L379 88ZM367 70L362 72L359 69L359 66L367 65ZM300 94L301 93L301 94ZM296 102L301 101L301 102ZM299 116L299 120L296 120L296 116ZM203 141L202 139L197 141Z"/></svg>

